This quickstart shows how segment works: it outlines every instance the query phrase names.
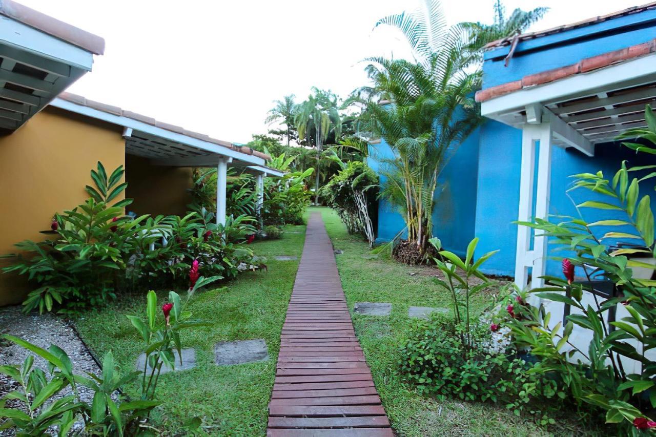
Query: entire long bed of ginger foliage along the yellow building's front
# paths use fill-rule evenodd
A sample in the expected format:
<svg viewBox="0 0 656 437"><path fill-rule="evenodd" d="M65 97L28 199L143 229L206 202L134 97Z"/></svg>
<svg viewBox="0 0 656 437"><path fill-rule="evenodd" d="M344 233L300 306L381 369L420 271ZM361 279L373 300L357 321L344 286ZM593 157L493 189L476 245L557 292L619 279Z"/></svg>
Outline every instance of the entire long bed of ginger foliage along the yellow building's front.
<svg viewBox="0 0 656 437"><path fill-rule="evenodd" d="M119 167L107 177L98 163L91 172L96 186L87 186L91 198L56 214L45 231L49 239L16 244L20 253L10 255L16 260L3 271L26 275L35 285L26 312L72 312L105 304L125 289L180 283L193 260L206 276L226 279L237 275L242 262L257 264L253 251L241 245L256 232L255 218L239 215L216 224L215 215L202 208L185 217L127 217L123 207L131 199L110 205L127 186L118 183L122 176Z"/></svg>

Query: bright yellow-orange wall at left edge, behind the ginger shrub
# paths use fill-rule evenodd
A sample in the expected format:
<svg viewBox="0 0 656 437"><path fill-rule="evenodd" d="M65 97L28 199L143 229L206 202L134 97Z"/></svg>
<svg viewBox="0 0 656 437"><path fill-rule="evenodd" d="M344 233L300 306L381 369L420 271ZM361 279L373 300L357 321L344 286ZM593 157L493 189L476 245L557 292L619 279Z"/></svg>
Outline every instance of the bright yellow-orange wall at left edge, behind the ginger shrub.
<svg viewBox="0 0 656 437"><path fill-rule="evenodd" d="M0 136L0 253L14 243L44 239L55 212L89 196L89 172L101 161L110 173L125 165L121 127L48 107L18 131ZM0 259L0 267L7 260ZM0 305L21 302L26 280L0 273Z"/></svg>

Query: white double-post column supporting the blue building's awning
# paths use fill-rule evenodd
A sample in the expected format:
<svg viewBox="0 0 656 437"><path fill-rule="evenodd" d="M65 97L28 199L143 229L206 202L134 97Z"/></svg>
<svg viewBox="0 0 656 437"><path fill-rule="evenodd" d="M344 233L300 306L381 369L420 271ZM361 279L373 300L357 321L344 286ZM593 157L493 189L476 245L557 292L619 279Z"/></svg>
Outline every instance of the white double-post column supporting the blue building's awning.
<svg viewBox="0 0 656 437"><path fill-rule="evenodd" d="M549 211L549 191L551 186L551 126L550 123L524 125L522 129L522 167L520 179L520 204L518 220L527 222L533 219L533 182L535 180L535 149L540 142L538 161L537 193L535 217L547 218ZM538 231L540 232L540 231ZM528 283L528 268L533 267L531 287L542 287L546 267L546 238L533 239L531 247L531 228L518 226L517 251L515 257L515 283L520 288Z"/></svg>

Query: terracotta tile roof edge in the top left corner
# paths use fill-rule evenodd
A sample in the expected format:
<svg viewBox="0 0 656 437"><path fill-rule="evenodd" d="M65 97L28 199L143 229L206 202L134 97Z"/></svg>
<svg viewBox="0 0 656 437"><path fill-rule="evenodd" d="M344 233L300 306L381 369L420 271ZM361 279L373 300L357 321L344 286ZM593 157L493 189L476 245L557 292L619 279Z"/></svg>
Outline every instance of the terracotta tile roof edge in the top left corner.
<svg viewBox="0 0 656 437"><path fill-rule="evenodd" d="M105 40L98 35L71 26L12 0L0 0L0 14L63 39L94 54L103 54L105 52Z"/></svg>

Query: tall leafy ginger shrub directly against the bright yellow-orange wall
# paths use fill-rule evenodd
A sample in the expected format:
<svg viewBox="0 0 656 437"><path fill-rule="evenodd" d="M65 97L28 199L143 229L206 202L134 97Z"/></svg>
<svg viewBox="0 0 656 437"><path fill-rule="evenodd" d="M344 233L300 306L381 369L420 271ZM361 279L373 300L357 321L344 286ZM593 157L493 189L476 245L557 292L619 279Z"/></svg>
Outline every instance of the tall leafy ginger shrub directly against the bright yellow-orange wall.
<svg viewBox="0 0 656 437"><path fill-rule="evenodd" d="M112 202L127 184L119 184L122 166L107 177L99 162L91 171L95 188L87 186L91 195L85 203L56 214L51 231L54 239L40 243L22 241L16 244L22 253L4 272L25 274L37 284L24 302L25 310L52 310L66 302L68 309L102 304L115 298L120 273L126 268L126 253L138 245L148 245L157 237L140 233L140 223L147 216L131 219L123 215L123 207L131 199ZM30 254L30 255L28 255Z"/></svg>

